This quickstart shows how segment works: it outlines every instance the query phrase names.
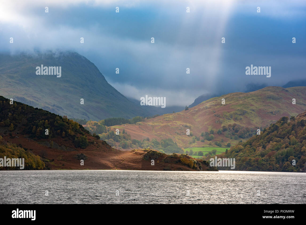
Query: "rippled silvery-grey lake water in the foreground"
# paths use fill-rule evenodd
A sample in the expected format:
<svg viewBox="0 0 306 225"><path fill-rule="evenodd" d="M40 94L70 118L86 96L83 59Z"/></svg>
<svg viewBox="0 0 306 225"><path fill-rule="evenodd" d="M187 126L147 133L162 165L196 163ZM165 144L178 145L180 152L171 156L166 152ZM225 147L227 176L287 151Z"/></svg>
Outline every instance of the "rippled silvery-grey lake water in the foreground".
<svg viewBox="0 0 306 225"><path fill-rule="evenodd" d="M306 173L0 171L3 203L306 203Z"/></svg>

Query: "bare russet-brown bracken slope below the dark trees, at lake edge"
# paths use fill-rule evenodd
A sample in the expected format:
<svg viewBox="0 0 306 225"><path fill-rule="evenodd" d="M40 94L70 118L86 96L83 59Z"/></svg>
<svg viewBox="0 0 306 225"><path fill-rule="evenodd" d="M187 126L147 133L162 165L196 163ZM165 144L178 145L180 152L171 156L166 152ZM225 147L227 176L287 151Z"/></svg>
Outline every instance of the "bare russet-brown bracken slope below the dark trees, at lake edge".
<svg viewBox="0 0 306 225"><path fill-rule="evenodd" d="M53 139L54 143L59 144L60 148L51 148L45 143L38 143L34 140L19 135L18 137L4 136L5 141L12 142L21 146L35 155L39 155L48 169L122 169L122 170L171 170L171 171L217 171L211 168L203 160L193 159L184 154L166 155L155 150L132 150L121 151L113 149L105 142L96 140L88 136L89 141L94 144L86 149L68 149L72 147L71 143L63 142L60 138ZM153 154L148 154L153 152ZM158 153L159 157L155 157ZM80 165L83 159L78 155L84 154L84 165ZM187 159L187 162L181 158ZM155 160L155 165L151 165L151 159ZM194 166L190 166L189 163Z"/></svg>

